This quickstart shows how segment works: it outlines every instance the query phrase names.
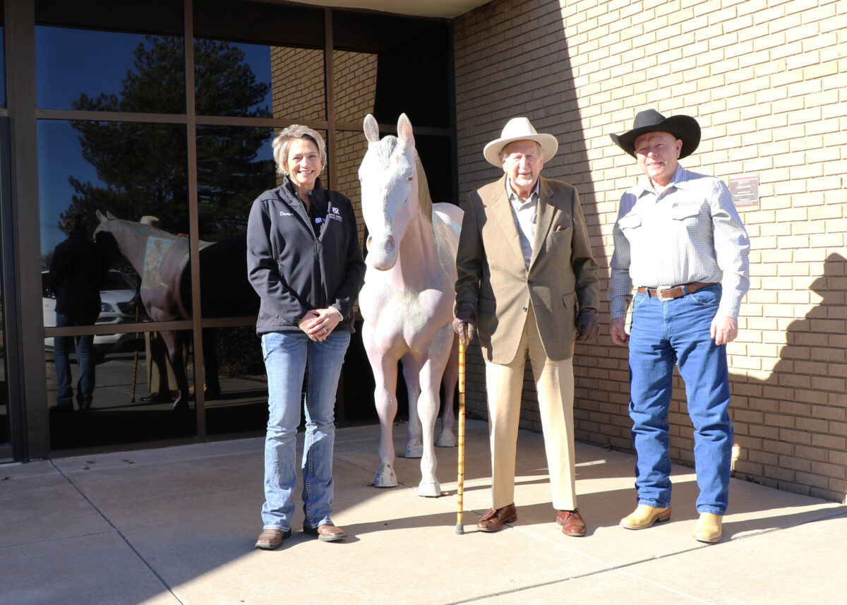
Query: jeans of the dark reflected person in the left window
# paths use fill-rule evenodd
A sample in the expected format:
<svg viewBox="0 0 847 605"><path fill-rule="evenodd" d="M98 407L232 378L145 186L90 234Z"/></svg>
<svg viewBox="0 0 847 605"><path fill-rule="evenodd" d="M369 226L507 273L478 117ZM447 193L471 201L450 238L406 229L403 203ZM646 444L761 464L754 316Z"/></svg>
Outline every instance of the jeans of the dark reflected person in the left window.
<svg viewBox="0 0 847 605"><path fill-rule="evenodd" d="M64 328L69 325L93 325L97 315L93 318L78 320L69 315L57 313L56 327ZM53 338L53 363L56 365L56 385L58 395L56 405L60 407L74 407L74 391L70 386L70 360L68 358L76 341L76 360L80 364L80 380L76 383L76 402L80 409L91 408L91 400L94 397L94 336L55 336Z"/></svg>

